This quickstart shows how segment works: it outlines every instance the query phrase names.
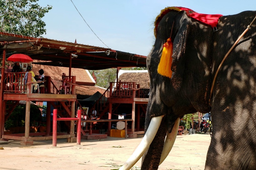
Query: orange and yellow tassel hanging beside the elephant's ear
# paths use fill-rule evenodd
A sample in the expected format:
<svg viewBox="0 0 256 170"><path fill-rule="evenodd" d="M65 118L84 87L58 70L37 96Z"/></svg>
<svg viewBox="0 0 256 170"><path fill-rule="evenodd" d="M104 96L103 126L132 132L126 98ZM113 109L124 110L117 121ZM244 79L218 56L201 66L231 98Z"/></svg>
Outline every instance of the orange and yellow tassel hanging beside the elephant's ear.
<svg viewBox="0 0 256 170"><path fill-rule="evenodd" d="M167 42L163 44L163 53L158 64L157 72L168 78L172 78L172 55L173 55L173 42L171 38L167 39Z"/></svg>

